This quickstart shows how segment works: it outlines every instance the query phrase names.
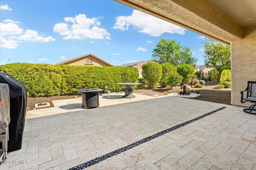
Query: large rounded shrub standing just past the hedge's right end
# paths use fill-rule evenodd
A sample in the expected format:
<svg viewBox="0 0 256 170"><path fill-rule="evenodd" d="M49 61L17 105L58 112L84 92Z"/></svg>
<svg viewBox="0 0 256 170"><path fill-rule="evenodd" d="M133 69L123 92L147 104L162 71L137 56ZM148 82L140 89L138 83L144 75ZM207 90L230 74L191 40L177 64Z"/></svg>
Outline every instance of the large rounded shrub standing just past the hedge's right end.
<svg viewBox="0 0 256 170"><path fill-rule="evenodd" d="M142 76L149 88L156 88L162 78L162 66L148 62L142 65Z"/></svg>

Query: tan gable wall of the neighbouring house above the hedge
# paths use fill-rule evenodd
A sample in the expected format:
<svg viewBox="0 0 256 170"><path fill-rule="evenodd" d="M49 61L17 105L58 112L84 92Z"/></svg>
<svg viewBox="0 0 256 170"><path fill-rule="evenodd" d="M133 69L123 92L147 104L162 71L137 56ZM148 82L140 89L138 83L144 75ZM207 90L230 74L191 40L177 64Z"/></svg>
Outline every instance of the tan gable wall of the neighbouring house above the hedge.
<svg viewBox="0 0 256 170"><path fill-rule="evenodd" d="M86 59L91 59L92 64L86 64ZM94 57L91 57L91 56L76 59L74 61L70 61L70 62L67 62L64 64L65 65L76 65L76 66L110 66L110 65L103 63L102 61L99 61L98 59L95 59Z"/></svg>

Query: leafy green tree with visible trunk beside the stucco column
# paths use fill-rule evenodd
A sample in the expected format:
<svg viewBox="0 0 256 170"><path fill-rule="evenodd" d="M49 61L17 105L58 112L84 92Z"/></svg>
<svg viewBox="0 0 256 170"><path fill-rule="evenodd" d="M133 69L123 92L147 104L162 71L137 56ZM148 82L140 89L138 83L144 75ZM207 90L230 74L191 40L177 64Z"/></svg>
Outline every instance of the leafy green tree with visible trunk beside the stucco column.
<svg viewBox="0 0 256 170"><path fill-rule="evenodd" d="M230 69L230 46L213 39L206 39L204 49L205 66L215 68L219 72L217 79L219 82L222 70Z"/></svg>

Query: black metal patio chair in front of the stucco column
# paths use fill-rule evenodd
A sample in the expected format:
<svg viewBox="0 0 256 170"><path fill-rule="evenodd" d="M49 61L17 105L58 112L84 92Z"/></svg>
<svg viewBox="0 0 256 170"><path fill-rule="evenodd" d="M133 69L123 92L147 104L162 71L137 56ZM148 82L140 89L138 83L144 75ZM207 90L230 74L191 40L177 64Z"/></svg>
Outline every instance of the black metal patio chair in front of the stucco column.
<svg viewBox="0 0 256 170"><path fill-rule="evenodd" d="M244 92L246 92L246 98L244 98ZM251 102L254 103L248 109L244 109L245 113L250 113L256 115L256 82L247 82L247 88L244 91L240 92L241 94L241 103Z"/></svg>

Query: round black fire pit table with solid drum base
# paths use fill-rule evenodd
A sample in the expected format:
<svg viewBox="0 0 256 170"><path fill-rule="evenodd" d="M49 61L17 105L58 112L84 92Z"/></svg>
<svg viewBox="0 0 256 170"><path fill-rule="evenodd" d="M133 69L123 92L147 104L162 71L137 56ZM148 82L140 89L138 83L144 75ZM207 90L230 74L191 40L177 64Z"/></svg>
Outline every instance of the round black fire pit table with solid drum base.
<svg viewBox="0 0 256 170"><path fill-rule="evenodd" d="M99 92L103 90L100 88L84 88L76 90L76 92L82 94L82 107L85 109L91 109L99 107Z"/></svg>

